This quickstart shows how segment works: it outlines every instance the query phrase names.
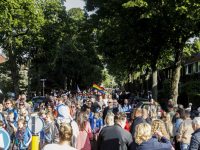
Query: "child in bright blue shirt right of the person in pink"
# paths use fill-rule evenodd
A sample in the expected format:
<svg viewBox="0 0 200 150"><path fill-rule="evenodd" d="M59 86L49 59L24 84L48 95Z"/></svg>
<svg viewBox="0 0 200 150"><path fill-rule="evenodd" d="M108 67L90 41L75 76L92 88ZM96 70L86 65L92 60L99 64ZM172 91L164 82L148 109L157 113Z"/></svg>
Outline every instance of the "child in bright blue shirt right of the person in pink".
<svg viewBox="0 0 200 150"><path fill-rule="evenodd" d="M96 125L94 125L95 126L95 140L97 140L98 134L103 128L103 121L101 120L100 114L98 112L94 114L94 118L95 118L94 122L96 122Z"/></svg>

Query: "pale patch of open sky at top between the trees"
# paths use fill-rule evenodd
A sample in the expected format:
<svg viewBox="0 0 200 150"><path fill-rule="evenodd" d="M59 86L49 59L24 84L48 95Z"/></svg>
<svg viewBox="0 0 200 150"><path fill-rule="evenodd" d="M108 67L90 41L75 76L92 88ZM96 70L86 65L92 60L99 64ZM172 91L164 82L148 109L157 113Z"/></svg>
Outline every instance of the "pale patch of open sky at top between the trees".
<svg viewBox="0 0 200 150"><path fill-rule="evenodd" d="M83 0L66 0L65 7L67 10L71 8L81 8L85 6L85 2Z"/></svg>

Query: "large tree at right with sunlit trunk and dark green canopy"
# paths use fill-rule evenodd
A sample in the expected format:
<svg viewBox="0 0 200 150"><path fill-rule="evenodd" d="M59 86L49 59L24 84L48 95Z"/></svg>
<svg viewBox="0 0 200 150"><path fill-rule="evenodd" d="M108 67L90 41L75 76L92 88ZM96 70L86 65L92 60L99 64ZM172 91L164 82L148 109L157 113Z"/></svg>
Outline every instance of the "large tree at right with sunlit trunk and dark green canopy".
<svg viewBox="0 0 200 150"><path fill-rule="evenodd" d="M188 1L129 1L126 6L140 8L143 10L141 17L147 20L159 19L159 22L152 22L154 28L161 29L165 43L173 47L175 53L173 78L172 78L172 99L177 103L178 83L180 79L181 57L186 41L198 35L200 32L200 2ZM159 25L159 26L158 26ZM167 49L166 49L167 50Z"/></svg>

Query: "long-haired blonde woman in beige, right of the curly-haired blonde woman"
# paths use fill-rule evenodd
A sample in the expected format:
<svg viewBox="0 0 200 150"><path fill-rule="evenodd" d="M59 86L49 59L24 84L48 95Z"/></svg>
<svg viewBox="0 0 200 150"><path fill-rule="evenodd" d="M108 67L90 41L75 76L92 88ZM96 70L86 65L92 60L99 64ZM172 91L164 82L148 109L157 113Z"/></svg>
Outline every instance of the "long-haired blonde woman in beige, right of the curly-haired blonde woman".
<svg viewBox="0 0 200 150"><path fill-rule="evenodd" d="M166 113L166 112L163 112L163 114L162 114L162 121L165 124L166 131L167 131L167 133L170 136L170 142L172 143L174 135L176 133L176 130L175 130L174 125L171 122L170 114Z"/></svg>

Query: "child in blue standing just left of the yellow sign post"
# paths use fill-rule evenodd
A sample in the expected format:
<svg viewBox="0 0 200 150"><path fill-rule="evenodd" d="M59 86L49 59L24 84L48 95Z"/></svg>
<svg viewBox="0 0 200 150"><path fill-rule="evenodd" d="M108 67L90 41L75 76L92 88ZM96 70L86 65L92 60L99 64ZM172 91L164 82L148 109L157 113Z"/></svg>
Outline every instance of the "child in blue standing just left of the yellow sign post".
<svg viewBox="0 0 200 150"><path fill-rule="evenodd" d="M15 140L15 149L27 149L29 147L30 142L32 141L31 132L25 127L25 121L19 119L17 122L17 132L16 132L16 140Z"/></svg>

